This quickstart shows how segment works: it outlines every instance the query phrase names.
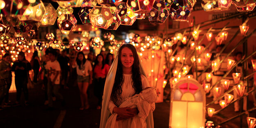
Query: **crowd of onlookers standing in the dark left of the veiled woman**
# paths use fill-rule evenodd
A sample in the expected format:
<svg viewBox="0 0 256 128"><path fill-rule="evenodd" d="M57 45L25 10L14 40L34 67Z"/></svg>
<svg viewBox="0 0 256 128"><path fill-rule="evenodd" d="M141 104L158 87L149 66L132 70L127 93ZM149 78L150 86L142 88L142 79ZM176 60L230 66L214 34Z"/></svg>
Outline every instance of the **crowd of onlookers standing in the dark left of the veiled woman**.
<svg viewBox="0 0 256 128"><path fill-rule="evenodd" d="M69 53L69 54L68 54ZM27 56L27 55L26 55ZM93 52L85 55L83 52L48 48L43 51L43 56L34 51L30 61L25 53L19 52L18 59L11 61L11 55L6 53L0 61L0 110L5 107L21 105L22 92L25 105L29 105L28 85L42 86L45 102L48 109L53 109L56 98L65 105L65 100L59 89L69 89L78 85L80 91L80 110L89 109L88 87L94 87L94 95L98 98L97 109L101 109L105 79L114 61L111 53L98 54ZM30 77L32 70L33 76ZM12 83L12 73L15 74L16 101L9 101L9 89ZM4 103L3 103L4 101Z"/></svg>

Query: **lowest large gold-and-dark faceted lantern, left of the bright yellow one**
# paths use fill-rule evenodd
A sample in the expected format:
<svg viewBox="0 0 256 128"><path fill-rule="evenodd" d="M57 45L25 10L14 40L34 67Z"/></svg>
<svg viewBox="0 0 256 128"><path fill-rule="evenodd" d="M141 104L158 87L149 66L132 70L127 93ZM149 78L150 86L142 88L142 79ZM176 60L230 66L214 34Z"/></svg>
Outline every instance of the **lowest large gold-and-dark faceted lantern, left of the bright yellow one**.
<svg viewBox="0 0 256 128"><path fill-rule="evenodd" d="M73 14L62 14L57 19L57 25L60 30L71 31L75 28L77 21Z"/></svg>

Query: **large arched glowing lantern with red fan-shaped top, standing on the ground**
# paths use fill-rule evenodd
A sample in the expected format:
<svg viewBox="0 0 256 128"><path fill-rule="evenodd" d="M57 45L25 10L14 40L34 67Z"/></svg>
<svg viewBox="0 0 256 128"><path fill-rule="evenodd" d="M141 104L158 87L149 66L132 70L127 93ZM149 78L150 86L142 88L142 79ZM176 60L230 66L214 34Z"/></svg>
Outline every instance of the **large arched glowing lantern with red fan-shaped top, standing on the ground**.
<svg viewBox="0 0 256 128"><path fill-rule="evenodd" d="M201 84L181 78L171 92L170 128L203 128L206 96Z"/></svg>

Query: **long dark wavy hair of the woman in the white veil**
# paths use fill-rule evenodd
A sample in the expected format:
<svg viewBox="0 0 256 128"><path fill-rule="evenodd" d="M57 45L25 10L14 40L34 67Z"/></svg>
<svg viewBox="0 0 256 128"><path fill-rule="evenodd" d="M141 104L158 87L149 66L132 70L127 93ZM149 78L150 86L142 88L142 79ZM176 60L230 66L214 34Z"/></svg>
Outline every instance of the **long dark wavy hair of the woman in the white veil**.
<svg viewBox="0 0 256 128"><path fill-rule="evenodd" d="M118 102L118 99L121 98L122 86L123 86L123 65L121 62L121 52L123 48L129 48L133 52L133 66L132 66L132 85L135 90L135 94L139 94L142 91L142 80L141 73L139 71L139 57L135 47L131 44L124 44L118 50L118 63L117 63L117 72L114 80L114 85L111 92L111 100L114 103Z"/></svg>

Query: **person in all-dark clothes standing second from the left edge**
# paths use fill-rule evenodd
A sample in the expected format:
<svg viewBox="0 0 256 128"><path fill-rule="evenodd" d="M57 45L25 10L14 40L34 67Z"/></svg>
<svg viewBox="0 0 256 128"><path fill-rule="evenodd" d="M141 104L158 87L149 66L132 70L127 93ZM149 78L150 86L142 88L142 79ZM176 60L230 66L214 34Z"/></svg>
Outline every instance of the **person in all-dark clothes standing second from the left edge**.
<svg viewBox="0 0 256 128"><path fill-rule="evenodd" d="M25 105L28 105L28 89L27 82L29 78L28 72L31 70L30 62L25 58L25 54L20 52L18 54L18 60L16 60L12 66L12 71L15 73L15 86L17 90L16 103L15 105L20 105L21 92L23 91L25 96Z"/></svg>

